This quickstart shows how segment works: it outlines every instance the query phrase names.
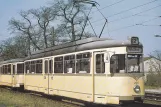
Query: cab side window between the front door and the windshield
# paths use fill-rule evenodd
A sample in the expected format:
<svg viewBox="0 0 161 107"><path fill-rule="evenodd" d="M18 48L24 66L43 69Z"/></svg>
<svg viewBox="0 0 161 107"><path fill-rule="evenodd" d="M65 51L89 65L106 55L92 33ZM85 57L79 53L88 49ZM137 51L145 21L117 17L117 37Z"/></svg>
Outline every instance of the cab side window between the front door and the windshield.
<svg viewBox="0 0 161 107"><path fill-rule="evenodd" d="M110 59L110 72L111 73L124 73L125 72L125 55L115 54Z"/></svg>

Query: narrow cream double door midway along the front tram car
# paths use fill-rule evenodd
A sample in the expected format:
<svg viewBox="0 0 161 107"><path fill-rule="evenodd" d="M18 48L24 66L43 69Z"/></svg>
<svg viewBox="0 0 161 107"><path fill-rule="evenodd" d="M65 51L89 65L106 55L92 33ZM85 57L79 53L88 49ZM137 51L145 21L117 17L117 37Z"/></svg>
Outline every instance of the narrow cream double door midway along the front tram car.
<svg viewBox="0 0 161 107"><path fill-rule="evenodd" d="M44 87L45 94L49 94L50 75L52 74L52 59L45 59L44 61Z"/></svg>

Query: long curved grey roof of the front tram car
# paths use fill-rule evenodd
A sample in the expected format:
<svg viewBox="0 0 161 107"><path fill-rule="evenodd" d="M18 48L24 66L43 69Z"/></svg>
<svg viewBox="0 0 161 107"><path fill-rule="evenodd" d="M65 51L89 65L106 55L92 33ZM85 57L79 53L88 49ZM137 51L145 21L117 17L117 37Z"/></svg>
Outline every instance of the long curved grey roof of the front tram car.
<svg viewBox="0 0 161 107"><path fill-rule="evenodd" d="M108 38L91 37L33 52L26 59L41 58L52 55L66 54L91 49L121 47L121 46L134 46L134 45L131 44L130 40L121 41ZM142 44L139 42L139 45L137 46L142 46Z"/></svg>

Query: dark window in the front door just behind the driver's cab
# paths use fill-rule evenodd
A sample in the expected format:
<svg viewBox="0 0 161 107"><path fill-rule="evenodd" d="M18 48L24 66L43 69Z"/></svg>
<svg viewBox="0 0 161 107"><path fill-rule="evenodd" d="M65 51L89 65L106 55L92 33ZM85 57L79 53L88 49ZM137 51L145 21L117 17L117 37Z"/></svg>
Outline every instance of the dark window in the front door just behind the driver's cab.
<svg viewBox="0 0 161 107"><path fill-rule="evenodd" d="M104 54L96 55L96 73L105 73Z"/></svg>

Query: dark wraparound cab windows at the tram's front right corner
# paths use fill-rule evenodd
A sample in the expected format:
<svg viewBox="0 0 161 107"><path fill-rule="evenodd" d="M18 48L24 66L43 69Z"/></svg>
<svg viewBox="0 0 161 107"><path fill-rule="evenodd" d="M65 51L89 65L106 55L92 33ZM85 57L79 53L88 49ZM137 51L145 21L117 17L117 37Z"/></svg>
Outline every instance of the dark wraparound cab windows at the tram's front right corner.
<svg viewBox="0 0 161 107"><path fill-rule="evenodd" d="M141 54L114 54L110 59L111 73L139 73L142 69Z"/></svg>

